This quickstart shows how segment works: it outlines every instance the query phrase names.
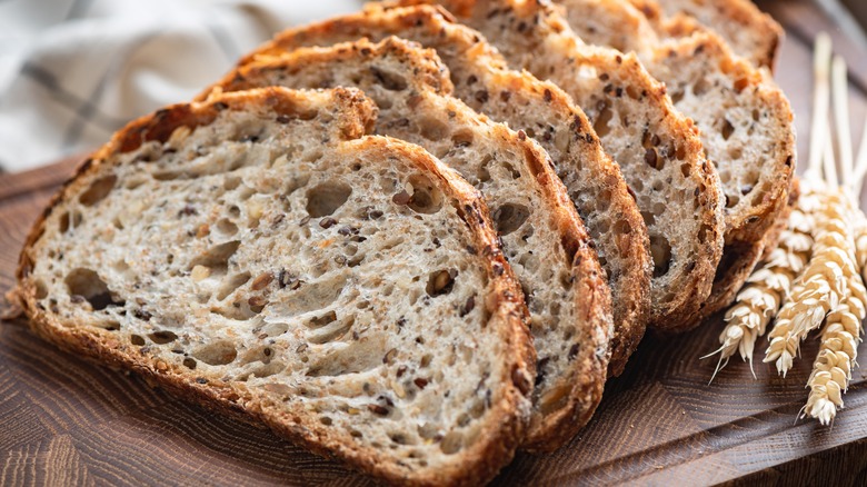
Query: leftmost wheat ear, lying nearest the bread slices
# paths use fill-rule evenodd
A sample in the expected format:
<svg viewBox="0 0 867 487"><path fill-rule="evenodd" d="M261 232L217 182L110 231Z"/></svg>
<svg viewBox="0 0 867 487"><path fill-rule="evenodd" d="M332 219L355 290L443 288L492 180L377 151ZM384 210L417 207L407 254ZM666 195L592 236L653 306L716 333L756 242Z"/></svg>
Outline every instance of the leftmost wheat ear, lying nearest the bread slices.
<svg viewBox="0 0 867 487"><path fill-rule="evenodd" d="M747 285L738 292L735 304L726 312L726 327L719 335L720 347L710 357L719 354L717 372L728 364L728 359L737 350L740 358L749 361L753 377L753 350L756 339L765 335L765 329L777 315L783 300L789 296L791 285L804 270L810 257L813 237L810 237L810 218L801 211L801 206L810 206L814 195L801 195L798 206L791 210L787 228L783 230L778 247L747 279ZM867 239L865 239L867 244Z"/></svg>

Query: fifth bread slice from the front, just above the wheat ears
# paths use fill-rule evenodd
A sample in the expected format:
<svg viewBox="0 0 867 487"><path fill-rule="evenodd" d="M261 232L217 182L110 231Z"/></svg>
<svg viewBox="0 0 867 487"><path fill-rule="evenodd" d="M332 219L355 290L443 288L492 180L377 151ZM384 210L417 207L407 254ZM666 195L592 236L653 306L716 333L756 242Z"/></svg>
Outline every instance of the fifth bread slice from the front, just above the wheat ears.
<svg viewBox="0 0 867 487"><path fill-rule="evenodd" d="M592 42L654 41L645 37L646 28L636 27L649 22L642 22L641 12L626 0L558 3L576 32ZM594 13L592 21L587 20L588 12ZM622 22L624 18L632 21ZM793 115L776 83L733 54L715 33L699 29L689 37L657 42L642 50L641 59L666 83L677 109L701 130L726 195L726 247L714 291L699 314L707 316L727 306L721 297L734 297L743 286L758 261L766 233L785 210L795 166Z"/></svg>

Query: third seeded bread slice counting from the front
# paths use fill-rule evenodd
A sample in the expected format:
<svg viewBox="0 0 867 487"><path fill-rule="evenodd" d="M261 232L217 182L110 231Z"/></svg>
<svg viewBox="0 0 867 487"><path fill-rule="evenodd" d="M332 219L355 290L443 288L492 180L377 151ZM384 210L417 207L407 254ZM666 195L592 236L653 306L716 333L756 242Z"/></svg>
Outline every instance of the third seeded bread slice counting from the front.
<svg viewBox="0 0 867 487"><path fill-rule="evenodd" d="M557 86L508 69L481 36L435 7L352 14L289 29L248 57L267 59L302 46L398 36L436 49L451 72L454 95L512 129L525 130L550 155L587 226L614 296L609 376L622 371L644 336L652 265L647 228L620 168L606 156L584 112Z"/></svg>

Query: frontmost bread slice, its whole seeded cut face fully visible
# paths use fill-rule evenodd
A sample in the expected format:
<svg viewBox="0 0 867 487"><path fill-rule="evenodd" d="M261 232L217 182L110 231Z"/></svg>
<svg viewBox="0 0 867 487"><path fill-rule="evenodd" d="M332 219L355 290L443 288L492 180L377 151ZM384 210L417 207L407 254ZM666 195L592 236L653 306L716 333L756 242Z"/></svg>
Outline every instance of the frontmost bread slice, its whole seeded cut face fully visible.
<svg viewBox="0 0 867 487"><path fill-rule="evenodd" d="M520 288L478 192L375 112L270 88L133 121L27 240L32 328L392 484L490 479L529 418Z"/></svg>

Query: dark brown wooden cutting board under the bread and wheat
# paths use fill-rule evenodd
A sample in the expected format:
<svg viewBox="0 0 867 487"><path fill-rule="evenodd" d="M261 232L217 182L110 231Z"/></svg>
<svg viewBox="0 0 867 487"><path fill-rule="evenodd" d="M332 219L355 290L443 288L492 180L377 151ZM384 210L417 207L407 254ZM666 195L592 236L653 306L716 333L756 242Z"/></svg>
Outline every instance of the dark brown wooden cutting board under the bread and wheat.
<svg viewBox="0 0 867 487"><path fill-rule="evenodd" d="M777 78L791 98L806 153L809 39L806 2L767 2L787 24ZM804 23L805 19L810 22ZM819 23L817 23L819 22ZM819 27L817 27L819 26ZM844 44L837 38L837 46ZM864 62L860 57L850 60ZM867 102L867 64L851 77L854 137ZM30 222L76 161L0 176L0 291L13 282ZM865 206L865 201L861 201ZM796 420L817 346L807 341L786 379L734 358L712 384L719 317L678 337L648 336L609 380L592 421L546 456L519 454L495 485L867 484L867 368L857 369L834 428ZM860 347L867 357L867 346ZM864 361L864 359L863 359ZM137 377L37 339L22 320L0 325L0 485L372 485L367 477L266 430L213 416Z"/></svg>

